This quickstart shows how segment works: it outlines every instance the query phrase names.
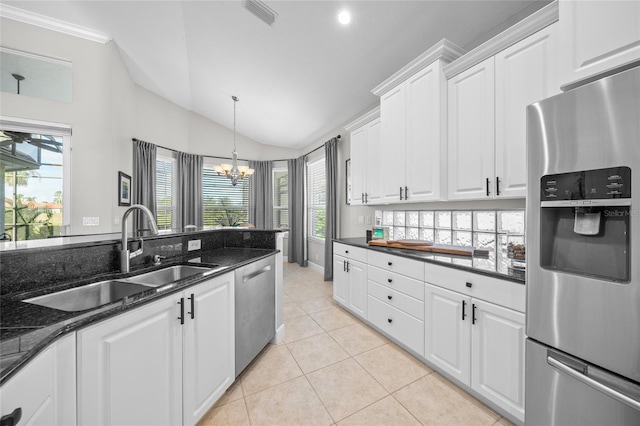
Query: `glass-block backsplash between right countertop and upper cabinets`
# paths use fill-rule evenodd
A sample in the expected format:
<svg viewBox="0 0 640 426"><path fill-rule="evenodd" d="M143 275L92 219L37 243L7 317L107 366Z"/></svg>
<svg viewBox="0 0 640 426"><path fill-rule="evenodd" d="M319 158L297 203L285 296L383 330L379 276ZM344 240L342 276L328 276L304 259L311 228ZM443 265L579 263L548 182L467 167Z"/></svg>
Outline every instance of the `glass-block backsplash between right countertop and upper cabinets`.
<svg viewBox="0 0 640 426"><path fill-rule="evenodd" d="M482 263L483 269L504 273L511 265L509 243L525 243L524 209L376 210L375 224L388 227L392 240L425 240L488 250L486 259L473 261Z"/></svg>

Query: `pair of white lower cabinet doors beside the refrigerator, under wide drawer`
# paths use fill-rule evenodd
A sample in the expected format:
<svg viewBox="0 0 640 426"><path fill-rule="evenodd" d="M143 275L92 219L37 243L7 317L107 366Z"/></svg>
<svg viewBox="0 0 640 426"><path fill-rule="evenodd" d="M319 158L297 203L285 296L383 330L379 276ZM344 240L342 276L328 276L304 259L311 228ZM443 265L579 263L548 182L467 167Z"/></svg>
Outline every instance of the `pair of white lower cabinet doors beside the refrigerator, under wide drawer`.
<svg viewBox="0 0 640 426"><path fill-rule="evenodd" d="M524 314L425 284L425 359L520 421L524 342Z"/></svg>

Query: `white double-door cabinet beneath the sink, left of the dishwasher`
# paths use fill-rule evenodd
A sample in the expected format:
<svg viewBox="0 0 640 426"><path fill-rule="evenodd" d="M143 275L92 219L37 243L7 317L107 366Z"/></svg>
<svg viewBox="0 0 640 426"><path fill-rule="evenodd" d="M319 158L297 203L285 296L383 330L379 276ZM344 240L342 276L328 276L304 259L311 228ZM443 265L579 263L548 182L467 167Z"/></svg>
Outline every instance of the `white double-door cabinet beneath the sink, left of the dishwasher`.
<svg viewBox="0 0 640 426"><path fill-rule="evenodd" d="M195 424L233 383L233 274L78 331L78 423Z"/></svg>

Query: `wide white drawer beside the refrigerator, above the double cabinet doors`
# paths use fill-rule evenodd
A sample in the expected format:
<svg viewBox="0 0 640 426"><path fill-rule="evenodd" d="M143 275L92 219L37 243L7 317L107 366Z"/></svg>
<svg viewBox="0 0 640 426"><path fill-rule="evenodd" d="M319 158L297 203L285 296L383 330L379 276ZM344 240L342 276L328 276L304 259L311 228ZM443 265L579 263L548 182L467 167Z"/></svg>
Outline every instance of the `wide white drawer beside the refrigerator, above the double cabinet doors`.
<svg viewBox="0 0 640 426"><path fill-rule="evenodd" d="M433 263L425 263L425 276L427 283L525 312L524 284Z"/></svg>

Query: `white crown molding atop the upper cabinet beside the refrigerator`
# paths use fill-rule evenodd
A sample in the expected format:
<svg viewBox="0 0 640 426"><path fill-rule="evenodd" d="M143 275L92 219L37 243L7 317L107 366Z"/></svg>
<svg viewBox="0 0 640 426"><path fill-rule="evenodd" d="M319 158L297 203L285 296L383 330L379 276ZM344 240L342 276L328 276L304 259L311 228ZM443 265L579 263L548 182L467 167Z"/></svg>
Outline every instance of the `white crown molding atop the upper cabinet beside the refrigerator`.
<svg viewBox="0 0 640 426"><path fill-rule="evenodd" d="M445 65L442 68L445 77L450 79L496 53L503 51L507 47L516 44L520 40L529 37L531 34L553 24L558 20L558 4L559 1L549 3L547 6L507 28L469 53Z"/></svg>

